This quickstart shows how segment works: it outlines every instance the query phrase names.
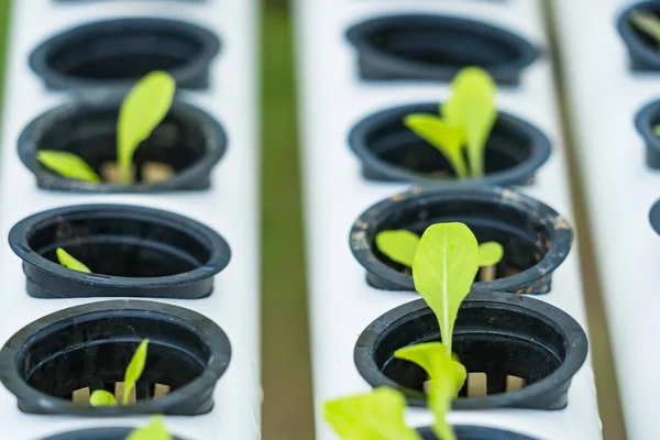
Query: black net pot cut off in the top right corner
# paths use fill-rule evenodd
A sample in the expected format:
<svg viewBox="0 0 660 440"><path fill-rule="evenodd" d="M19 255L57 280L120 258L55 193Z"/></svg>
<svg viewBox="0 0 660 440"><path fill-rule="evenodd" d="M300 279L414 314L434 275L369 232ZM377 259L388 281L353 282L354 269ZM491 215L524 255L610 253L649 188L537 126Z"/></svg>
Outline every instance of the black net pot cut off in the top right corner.
<svg viewBox="0 0 660 440"><path fill-rule="evenodd" d="M660 52L658 43L640 31L630 21L631 11L650 12L660 15L660 2L640 1L627 7L617 19L617 29L628 50L630 69L634 72L660 70Z"/></svg>

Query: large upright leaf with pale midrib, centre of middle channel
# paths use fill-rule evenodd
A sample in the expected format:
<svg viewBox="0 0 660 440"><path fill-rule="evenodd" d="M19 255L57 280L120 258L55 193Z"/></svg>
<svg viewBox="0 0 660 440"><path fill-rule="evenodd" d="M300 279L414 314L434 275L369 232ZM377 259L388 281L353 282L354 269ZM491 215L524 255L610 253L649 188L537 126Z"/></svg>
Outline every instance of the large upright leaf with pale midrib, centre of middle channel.
<svg viewBox="0 0 660 440"><path fill-rule="evenodd" d="M440 336L451 355L453 326L459 307L479 271L479 243L463 223L436 223L421 235L415 261L415 288L433 310Z"/></svg>

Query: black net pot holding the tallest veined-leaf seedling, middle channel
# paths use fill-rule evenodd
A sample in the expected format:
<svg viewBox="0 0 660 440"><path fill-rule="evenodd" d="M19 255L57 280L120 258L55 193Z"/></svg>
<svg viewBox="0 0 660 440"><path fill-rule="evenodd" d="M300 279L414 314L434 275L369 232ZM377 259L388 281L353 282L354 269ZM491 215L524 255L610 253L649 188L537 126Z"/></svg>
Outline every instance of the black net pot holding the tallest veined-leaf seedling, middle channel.
<svg viewBox="0 0 660 440"><path fill-rule="evenodd" d="M426 407L426 372L394 353L431 341L440 341L438 320L422 299L415 300L381 316L362 332L355 365L372 386L396 388L409 405ZM452 350L469 373L455 409L562 409L571 380L586 359L587 340L573 318L543 301L472 292L459 310ZM485 393L475 394L474 385Z"/></svg>

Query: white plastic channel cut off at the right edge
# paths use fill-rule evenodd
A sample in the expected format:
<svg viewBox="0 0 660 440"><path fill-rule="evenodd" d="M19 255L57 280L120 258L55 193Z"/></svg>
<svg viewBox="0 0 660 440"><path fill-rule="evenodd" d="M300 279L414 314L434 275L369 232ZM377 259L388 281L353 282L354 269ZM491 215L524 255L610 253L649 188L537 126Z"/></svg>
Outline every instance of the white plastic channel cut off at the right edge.
<svg viewBox="0 0 660 440"><path fill-rule="evenodd" d="M660 198L660 174L646 166L634 118L660 98L660 74L628 68L616 20L631 1L552 4L626 429L629 439L653 439L660 418L660 238L648 213Z"/></svg>

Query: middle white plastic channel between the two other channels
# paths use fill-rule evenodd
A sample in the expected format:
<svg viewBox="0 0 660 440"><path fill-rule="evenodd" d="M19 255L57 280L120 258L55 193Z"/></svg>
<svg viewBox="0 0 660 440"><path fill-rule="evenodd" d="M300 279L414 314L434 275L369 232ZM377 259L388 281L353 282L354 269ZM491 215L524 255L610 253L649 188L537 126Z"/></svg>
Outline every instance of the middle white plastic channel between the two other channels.
<svg viewBox="0 0 660 440"><path fill-rule="evenodd" d="M370 389L353 363L362 330L382 314L410 300L409 294L378 292L364 280L364 268L349 249L349 231L372 204L404 191L405 185L376 184L362 178L360 164L346 143L348 132L363 117L396 105L442 100L443 85L359 80L356 56L344 32L353 23L394 12L441 12L510 29L547 48L541 2L481 1L327 1L297 2L299 82L301 92L304 188L307 252L310 271L310 319L317 439L334 439L321 416L324 400ZM549 59L539 59L524 74L517 89L503 90L499 108L522 117L548 133L552 156L525 191L572 218L564 145L558 121ZM586 328L579 255L556 272L552 293L538 297L571 314ZM453 411L450 421L507 428L538 439L601 439L591 361L574 376L569 406L559 411ZM428 425L426 409L409 410L414 426Z"/></svg>

